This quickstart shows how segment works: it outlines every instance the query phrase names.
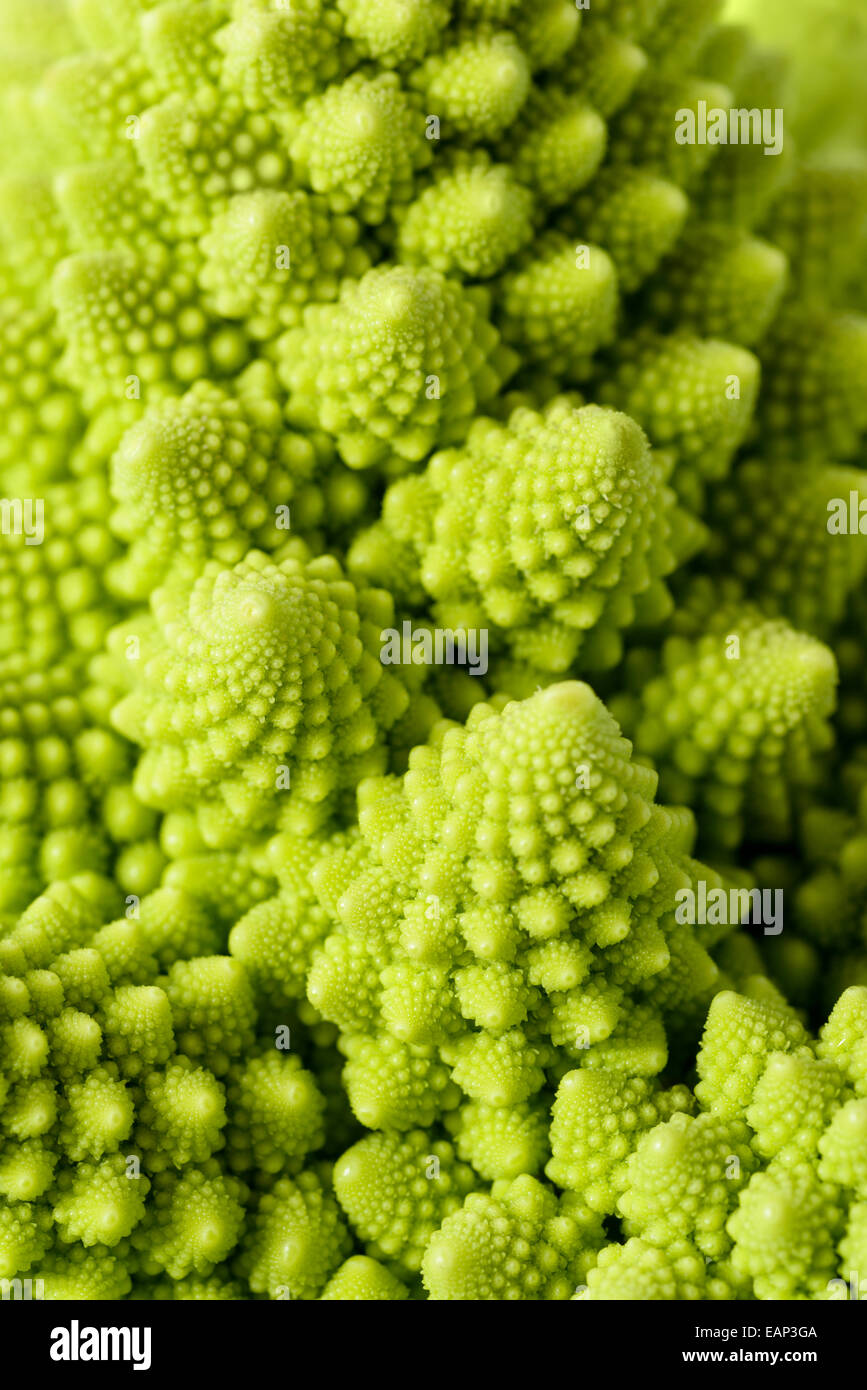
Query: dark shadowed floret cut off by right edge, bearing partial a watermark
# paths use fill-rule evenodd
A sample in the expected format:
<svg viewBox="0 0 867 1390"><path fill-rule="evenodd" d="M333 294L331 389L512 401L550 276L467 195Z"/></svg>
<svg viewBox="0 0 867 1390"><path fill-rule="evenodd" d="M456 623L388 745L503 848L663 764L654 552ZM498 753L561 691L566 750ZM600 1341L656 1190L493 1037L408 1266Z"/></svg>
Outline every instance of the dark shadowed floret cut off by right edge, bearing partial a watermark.
<svg viewBox="0 0 867 1390"><path fill-rule="evenodd" d="M764 612L827 638L867 569L867 539L848 518L861 480L859 468L748 460L711 489L707 566L734 574Z"/></svg>

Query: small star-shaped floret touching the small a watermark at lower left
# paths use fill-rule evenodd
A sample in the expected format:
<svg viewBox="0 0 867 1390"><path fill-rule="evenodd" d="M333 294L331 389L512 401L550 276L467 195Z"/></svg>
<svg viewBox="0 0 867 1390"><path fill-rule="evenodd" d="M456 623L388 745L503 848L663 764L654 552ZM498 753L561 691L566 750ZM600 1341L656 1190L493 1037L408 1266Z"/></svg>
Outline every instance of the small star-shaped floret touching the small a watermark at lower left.
<svg viewBox="0 0 867 1390"><path fill-rule="evenodd" d="M61 1173L54 1220L61 1240L82 1245L117 1245L144 1215L150 1180L131 1177L122 1154L101 1163L79 1163L75 1173Z"/></svg>

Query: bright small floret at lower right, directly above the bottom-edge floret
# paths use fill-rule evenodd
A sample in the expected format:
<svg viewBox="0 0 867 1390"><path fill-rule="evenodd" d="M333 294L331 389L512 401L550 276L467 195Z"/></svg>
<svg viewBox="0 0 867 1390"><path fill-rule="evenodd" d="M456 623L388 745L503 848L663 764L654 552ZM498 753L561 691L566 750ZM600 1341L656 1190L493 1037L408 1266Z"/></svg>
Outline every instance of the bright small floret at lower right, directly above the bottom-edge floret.
<svg viewBox="0 0 867 1390"><path fill-rule="evenodd" d="M803 1049L771 1052L745 1111L756 1152L786 1162L813 1158L842 1090L843 1077L834 1062L816 1061Z"/></svg>

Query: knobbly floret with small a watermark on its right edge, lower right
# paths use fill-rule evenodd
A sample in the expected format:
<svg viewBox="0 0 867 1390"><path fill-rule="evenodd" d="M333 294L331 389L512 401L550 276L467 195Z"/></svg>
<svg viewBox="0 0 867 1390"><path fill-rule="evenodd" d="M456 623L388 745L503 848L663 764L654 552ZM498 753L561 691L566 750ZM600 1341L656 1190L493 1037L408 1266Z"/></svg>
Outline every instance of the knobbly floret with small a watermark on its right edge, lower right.
<svg viewBox="0 0 867 1390"><path fill-rule="evenodd" d="M691 1238L703 1255L720 1259L731 1245L727 1218L754 1166L743 1120L672 1115L639 1140L628 1161L618 1201L625 1233L663 1248Z"/></svg>

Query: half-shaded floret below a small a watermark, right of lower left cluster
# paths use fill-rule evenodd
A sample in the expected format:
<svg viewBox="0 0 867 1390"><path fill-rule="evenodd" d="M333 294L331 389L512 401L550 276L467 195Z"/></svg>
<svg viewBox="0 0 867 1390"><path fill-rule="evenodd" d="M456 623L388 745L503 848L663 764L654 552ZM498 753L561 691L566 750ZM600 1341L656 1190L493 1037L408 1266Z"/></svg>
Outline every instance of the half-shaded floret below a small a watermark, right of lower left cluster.
<svg viewBox="0 0 867 1390"><path fill-rule="evenodd" d="M226 1162L233 1172L279 1173L321 1148L325 1101L297 1056L271 1048L239 1062L226 1079Z"/></svg>

